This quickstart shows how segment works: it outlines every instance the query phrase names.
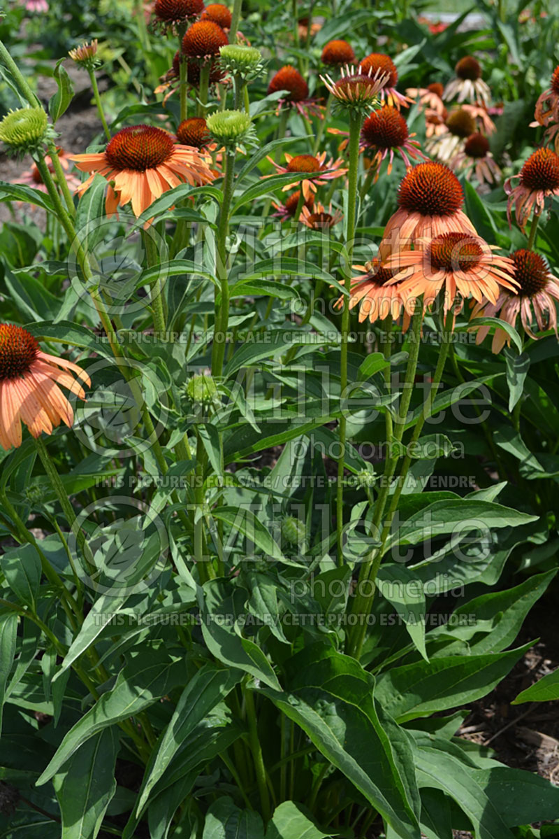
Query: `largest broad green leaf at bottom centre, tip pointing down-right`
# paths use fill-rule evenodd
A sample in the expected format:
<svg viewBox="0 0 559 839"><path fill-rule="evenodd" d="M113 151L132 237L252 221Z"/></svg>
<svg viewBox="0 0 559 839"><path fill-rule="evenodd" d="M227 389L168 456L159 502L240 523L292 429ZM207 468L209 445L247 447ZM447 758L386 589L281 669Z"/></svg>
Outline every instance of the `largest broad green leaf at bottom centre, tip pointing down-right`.
<svg viewBox="0 0 559 839"><path fill-rule="evenodd" d="M318 644L287 663L290 690L262 689L401 836L419 839L419 795L407 733L377 706L374 678Z"/></svg>

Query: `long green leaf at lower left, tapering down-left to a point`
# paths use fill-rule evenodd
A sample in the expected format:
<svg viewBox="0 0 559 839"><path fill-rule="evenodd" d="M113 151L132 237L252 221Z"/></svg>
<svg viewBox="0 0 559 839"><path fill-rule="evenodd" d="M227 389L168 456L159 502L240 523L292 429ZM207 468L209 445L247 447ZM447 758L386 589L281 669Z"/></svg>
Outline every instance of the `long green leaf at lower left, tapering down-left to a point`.
<svg viewBox="0 0 559 839"><path fill-rule="evenodd" d="M134 717L185 681L184 660L169 659L163 649L142 649L118 674L112 690L104 693L70 728L37 785L46 784L77 749L97 732L127 717Z"/></svg>

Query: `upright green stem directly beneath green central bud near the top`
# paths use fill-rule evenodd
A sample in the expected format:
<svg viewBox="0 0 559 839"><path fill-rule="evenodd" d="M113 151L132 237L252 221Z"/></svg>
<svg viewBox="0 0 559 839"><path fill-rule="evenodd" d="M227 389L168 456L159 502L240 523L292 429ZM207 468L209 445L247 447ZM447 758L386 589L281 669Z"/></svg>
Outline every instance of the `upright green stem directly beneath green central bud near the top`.
<svg viewBox="0 0 559 839"><path fill-rule="evenodd" d="M223 185L223 201L220 206L220 218L217 227L217 258L218 279L220 280L220 297L218 307L217 289L215 293L215 336L212 347L211 372L213 376L220 376L223 372L225 358L225 335L229 324L229 278L227 276L227 230L229 228L229 212L233 197L233 180L235 175L235 152L228 151L225 155L225 175Z"/></svg>

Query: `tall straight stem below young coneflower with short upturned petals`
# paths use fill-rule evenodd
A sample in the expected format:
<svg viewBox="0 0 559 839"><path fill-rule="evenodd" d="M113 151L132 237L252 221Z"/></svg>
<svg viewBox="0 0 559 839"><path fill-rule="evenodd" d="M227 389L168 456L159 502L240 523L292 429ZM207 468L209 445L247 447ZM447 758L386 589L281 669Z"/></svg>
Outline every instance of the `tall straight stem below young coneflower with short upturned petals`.
<svg viewBox="0 0 559 839"><path fill-rule="evenodd" d="M342 310L342 341L340 345L340 374L339 390L340 404L344 399L348 386L348 333L349 333L349 292L351 290L351 259L355 238L355 220L357 212L357 176L359 172L359 141L362 118L350 112L349 115L349 174L348 174L348 218L346 229L347 266L345 271L344 309ZM301 190L303 192L303 189ZM345 437L347 420L344 414L339 418L340 455L338 461L338 483L336 486L336 530L338 545L338 562L343 565L343 534L344 534L344 467L345 467Z"/></svg>

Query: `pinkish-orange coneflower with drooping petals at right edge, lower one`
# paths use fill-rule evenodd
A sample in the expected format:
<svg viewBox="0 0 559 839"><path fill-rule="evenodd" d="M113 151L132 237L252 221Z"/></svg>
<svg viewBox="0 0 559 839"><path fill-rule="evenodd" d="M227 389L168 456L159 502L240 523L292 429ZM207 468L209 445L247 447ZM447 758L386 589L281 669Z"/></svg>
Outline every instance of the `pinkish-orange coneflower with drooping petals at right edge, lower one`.
<svg viewBox="0 0 559 839"><path fill-rule="evenodd" d="M555 301L559 300L559 279L551 274L546 260L538 253L521 249L512 253L510 258L515 266L515 280L519 284L517 294L505 291L494 303L482 301L474 306L472 318L499 315L501 320L516 326L520 314L525 333L531 338L538 338L531 328L534 319L540 331L552 328L557 335ZM484 341L489 329L489 326L477 328L476 343ZM500 352L505 343L510 343L510 336L505 330L496 329L491 343L492 352Z"/></svg>

